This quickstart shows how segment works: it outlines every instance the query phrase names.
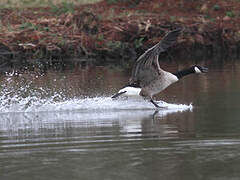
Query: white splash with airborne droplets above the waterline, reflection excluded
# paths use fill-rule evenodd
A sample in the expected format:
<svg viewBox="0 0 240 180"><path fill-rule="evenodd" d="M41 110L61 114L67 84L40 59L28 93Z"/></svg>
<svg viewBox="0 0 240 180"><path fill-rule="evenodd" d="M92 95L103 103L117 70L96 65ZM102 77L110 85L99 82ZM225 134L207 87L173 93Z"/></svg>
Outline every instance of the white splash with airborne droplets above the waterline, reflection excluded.
<svg viewBox="0 0 240 180"><path fill-rule="evenodd" d="M6 74L0 86L0 113L156 109L150 102L144 100L113 100L109 96L84 97L79 95L81 92L73 94L70 87L74 84L67 84L69 81L61 77L59 75L58 82L55 82L52 76L16 75L16 72ZM64 84L67 85L62 86ZM75 86L74 89L81 90ZM191 104L169 104L164 101L157 103L165 110L192 109Z"/></svg>

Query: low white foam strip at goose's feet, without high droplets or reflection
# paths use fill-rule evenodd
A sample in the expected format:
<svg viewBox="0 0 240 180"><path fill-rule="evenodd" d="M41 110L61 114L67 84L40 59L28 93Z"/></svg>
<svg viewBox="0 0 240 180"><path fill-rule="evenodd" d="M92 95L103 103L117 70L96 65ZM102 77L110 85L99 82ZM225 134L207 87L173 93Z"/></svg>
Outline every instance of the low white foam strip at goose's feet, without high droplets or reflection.
<svg viewBox="0 0 240 180"><path fill-rule="evenodd" d="M61 94L54 94L50 98L37 96L19 97L18 95L0 97L0 113L9 112L56 112L80 110L153 110L155 107L147 101L112 100L110 97L61 99ZM59 100L61 99L61 100ZM192 105L170 104L157 101L161 108L169 110L192 109Z"/></svg>

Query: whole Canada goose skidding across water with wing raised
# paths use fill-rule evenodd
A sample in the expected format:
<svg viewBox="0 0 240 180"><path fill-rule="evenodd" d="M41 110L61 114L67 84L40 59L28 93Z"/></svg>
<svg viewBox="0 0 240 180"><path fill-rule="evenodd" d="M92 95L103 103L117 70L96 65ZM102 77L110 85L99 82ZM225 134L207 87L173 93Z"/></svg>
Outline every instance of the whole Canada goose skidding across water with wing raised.
<svg viewBox="0 0 240 180"><path fill-rule="evenodd" d="M155 107L159 107L157 103L153 101L153 95L163 91L169 85L177 82L188 74L206 73L208 69L198 65L176 73L170 73L160 68L158 62L159 54L166 51L176 42L181 31L181 28L170 31L159 43L142 54L134 64L129 84L120 89L112 98L121 95L127 97L143 97L149 99Z"/></svg>

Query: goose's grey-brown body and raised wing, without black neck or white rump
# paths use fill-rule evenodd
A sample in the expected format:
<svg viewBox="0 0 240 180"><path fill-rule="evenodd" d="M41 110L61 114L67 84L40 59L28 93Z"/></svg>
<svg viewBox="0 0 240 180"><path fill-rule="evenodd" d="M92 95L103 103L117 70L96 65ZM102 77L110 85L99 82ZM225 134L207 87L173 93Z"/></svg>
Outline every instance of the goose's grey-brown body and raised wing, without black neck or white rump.
<svg viewBox="0 0 240 180"><path fill-rule="evenodd" d="M159 43L137 59L129 83L130 86L136 85L142 88L140 95L152 98L154 94L178 80L176 76L160 68L158 56L176 42L180 33L180 28L169 32Z"/></svg>

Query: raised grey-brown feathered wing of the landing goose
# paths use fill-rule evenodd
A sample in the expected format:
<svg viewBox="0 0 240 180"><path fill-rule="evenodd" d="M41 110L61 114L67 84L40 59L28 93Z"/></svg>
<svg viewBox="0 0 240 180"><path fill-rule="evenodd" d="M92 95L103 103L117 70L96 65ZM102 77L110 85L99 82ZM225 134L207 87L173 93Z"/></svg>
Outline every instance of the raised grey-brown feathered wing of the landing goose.
<svg viewBox="0 0 240 180"><path fill-rule="evenodd" d="M170 31L159 43L148 49L137 59L133 66L130 84L145 87L159 77L158 56L176 42L181 30L181 28L178 28Z"/></svg>

